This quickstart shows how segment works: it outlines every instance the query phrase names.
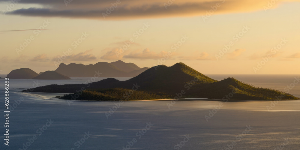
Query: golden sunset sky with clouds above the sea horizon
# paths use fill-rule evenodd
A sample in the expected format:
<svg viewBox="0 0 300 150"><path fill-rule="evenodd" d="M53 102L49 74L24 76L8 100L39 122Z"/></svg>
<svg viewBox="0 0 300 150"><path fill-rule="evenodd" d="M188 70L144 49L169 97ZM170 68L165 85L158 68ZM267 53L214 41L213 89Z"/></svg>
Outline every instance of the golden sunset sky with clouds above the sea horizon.
<svg viewBox="0 0 300 150"><path fill-rule="evenodd" d="M300 74L299 8L299 0L0 0L0 74L117 60Z"/></svg>

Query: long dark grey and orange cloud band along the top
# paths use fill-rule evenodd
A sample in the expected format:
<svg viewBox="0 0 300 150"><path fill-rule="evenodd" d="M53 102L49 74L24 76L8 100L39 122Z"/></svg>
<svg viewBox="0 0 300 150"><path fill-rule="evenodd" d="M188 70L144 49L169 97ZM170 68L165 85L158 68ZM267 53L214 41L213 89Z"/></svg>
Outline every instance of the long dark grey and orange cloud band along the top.
<svg viewBox="0 0 300 150"><path fill-rule="evenodd" d="M0 2L10 0L0 0ZM126 0L121 4L113 4L116 1L109 0L76 0L67 4L61 0L24 0L19 1L23 4L39 4L42 8L31 7L28 9L17 9L6 14L23 16L52 16L68 18L104 19L103 13L109 13L105 19L138 19L138 18L161 18L161 17L185 17L201 16L213 6L220 3L220 7L214 14L240 13L264 10L270 0ZM276 8L283 1L297 0L278 0L271 8ZM170 2L170 1L169 1ZM113 11L109 11L109 8Z"/></svg>

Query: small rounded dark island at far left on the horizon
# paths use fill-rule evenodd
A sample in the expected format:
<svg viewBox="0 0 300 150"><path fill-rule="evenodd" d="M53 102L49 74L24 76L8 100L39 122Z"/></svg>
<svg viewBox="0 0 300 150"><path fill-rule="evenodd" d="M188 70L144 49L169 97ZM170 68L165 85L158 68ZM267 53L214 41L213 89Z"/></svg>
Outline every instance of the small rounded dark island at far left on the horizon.
<svg viewBox="0 0 300 150"><path fill-rule="evenodd" d="M7 74L7 77L9 77L10 79L32 79L36 76L38 76L38 73L29 68L12 70Z"/></svg>

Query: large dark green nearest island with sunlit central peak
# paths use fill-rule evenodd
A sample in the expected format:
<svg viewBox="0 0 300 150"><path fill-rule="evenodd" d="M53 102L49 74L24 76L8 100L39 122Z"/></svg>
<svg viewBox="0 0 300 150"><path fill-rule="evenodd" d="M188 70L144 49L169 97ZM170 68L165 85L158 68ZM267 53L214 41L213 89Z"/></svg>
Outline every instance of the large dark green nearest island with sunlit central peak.
<svg viewBox="0 0 300 150"><path fill-rule="evenodd" d="M86 89L86 90L85 90ZM134 91L133 91L133 90ZM82 90L82 91L81 91ZM24 92L29 89L24 90ZM171 67L159 65L126 81L114 78L88 84L46 85L32 92L72 93L61 99L86 101L129 101L170 98L209 98L230 100L297 100L288 93L256 88L234 78L217 81L177 63Z"/></svg>

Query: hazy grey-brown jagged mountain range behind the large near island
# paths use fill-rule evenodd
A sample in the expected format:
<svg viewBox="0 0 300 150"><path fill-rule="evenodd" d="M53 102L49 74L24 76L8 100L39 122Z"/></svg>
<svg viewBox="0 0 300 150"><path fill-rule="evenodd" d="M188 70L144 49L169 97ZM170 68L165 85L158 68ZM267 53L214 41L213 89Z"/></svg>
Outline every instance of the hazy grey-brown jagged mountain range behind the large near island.
<svg viewBox="0 0 300 150"><path fill-rule="evenodd" d="M123 67L123 70L113 64ZM135 70L135 72L127 72L128 70L133 69L139 70ZM95 75L99 76L99 73L102 73L99 77L134 77L142 73L144 69L137 67L133 63L116 61L113 63L98 62L97 64L89 65L75 63L66 65L61 63L55 71L69 77L94 77Z"/></svg>

